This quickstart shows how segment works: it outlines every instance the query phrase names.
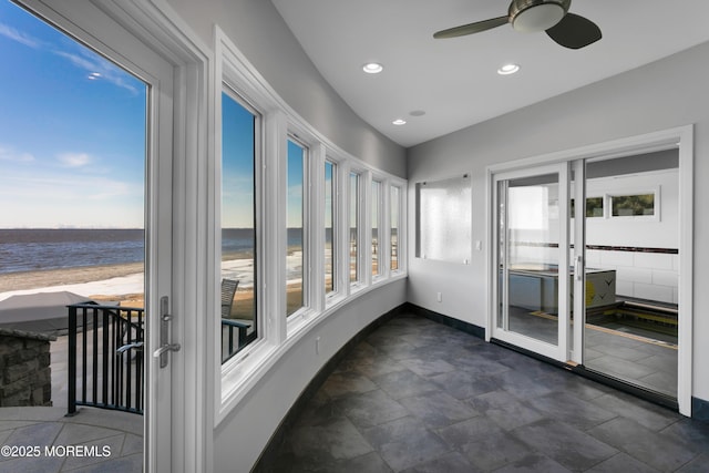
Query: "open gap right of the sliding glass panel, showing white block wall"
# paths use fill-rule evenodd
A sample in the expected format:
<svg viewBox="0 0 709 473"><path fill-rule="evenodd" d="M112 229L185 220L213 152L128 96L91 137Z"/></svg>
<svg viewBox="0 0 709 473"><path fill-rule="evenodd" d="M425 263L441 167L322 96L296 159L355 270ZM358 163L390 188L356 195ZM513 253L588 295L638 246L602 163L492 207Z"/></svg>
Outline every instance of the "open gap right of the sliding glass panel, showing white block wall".
<svg viewBox="0 0 709 473"><path fill-rule="evenodd" d="M585 165L584 366L677 399L678 150Z"/></svg>

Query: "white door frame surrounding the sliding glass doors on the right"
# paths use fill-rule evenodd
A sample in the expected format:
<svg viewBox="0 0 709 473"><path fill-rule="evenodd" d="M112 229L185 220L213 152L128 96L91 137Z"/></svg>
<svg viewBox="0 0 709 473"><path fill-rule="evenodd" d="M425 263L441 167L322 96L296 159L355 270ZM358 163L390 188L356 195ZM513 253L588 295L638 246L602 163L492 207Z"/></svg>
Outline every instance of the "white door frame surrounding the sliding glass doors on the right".
<svg viewBox="0 0 709 473"><path fill-rule="evenodd" d="M691 417L692 392L692 320L693 320L693 125L678 126L675 128L651 132L647 134L613 140L572 150L542 154L533 157L510 161L490 165L486 168L486 235L490 241L495 236L494 207L496 192L494 185L495 174L524 169L544 164L573 162L576 160L595 157L623 157L638 152L660 151L677 146L679 150L679 331L678 331L678 369L677 369L677 402L682 415ZM493 245L486 248L486 295L487 295L487 330L485 338L492 338L492 327L495 323L495 294L494 282L495 250ZM580 337L574 333L574 348L578 352L576 342ZM571 352L567 359L572 359ZM578 354L574 353L574 358Z"/></svg>

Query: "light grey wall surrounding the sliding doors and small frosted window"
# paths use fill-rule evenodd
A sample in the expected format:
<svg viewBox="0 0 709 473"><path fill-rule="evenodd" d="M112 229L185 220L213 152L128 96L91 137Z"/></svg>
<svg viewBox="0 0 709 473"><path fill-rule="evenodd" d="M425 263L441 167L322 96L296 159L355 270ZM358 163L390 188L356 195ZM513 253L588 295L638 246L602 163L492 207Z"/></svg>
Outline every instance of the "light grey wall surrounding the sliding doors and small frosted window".
<svg viewBox="0 0 709 473"><path fill-rule="evenodd" d="M688 73L691 71L691 73ZM473 243L486 241L486 166L555 151L695 124L695 352L692 395L709 400L709 43L583 89L527 106L409 150L409 223L414 184L471 173ZM531 84L532 86L533 84ZM411 245L413 247L414 245ZM473 247L474 248L474 247ZM415 259L410 251L411 302L484 327L485 251L470 266ZM444 288L443 302L434 288Z"/></svg>

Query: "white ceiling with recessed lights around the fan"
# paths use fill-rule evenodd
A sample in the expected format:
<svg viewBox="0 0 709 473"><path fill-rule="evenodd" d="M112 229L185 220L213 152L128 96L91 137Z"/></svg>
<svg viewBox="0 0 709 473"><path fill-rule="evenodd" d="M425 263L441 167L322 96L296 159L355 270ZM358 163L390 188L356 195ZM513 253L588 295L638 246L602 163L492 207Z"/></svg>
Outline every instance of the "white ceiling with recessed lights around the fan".
<svg viewBox="0 0 709 473"><path fill-rule="evenodd" d="M603 31L600 41L580 50L508 24L469 37L432 38L438 30L505 16L507 0L271 1L352 110L403 146L709 41L707 0L574 0L569 11ZM384 71L363 73L361 66L370 61L382 63ZM521 71L499 75L507 62ZM410 115L419 110L425 114ZM399 117L408 123L393 125Z"/></svg>

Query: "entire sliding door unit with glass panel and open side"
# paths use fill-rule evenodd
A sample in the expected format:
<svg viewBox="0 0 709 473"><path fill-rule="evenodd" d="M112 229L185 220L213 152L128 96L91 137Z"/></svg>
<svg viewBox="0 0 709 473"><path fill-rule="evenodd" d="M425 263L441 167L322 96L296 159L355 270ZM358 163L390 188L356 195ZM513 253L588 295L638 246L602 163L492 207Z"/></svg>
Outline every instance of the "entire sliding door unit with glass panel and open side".
<svg viewBox="0 0 709 473"><path fill-rule="evenodd" d="M691 130L493 166L490 189L490 338L688 415Z"/></svg>

